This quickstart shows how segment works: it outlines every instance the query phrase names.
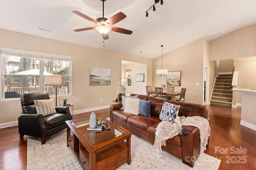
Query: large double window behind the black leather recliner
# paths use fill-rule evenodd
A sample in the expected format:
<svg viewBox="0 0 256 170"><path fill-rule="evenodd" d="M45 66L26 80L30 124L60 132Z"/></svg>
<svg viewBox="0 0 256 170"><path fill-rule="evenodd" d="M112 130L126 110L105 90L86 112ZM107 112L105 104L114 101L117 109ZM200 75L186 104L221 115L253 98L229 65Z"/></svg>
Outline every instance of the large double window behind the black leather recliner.
<svg viewBox="0 0 256 170"><path fill-rule="evenodd" d="M20 98L28 92L55 94L52 84L45 84L46 75L61 75L62 87L57 94L70 94L71 57L1 47L3 99Z"/></svg>

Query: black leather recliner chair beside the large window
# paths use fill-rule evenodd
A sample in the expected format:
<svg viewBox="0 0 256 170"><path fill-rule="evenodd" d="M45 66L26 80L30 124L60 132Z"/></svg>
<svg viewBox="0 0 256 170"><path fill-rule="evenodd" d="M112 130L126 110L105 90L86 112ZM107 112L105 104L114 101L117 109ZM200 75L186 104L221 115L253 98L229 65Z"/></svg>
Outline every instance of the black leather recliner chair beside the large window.
<svg viewBox="0 0 256 170"><path fill-rule="evenodd" d="M50 99L48 92L26 93L21 96L23 114L18 117L20 138L24 135L40 137L41 143L45 144L46 137L66 129L65 121L72 119L68 107L55 107L57 113L44 117L36 113L34 100L46 99Z"/></svg>

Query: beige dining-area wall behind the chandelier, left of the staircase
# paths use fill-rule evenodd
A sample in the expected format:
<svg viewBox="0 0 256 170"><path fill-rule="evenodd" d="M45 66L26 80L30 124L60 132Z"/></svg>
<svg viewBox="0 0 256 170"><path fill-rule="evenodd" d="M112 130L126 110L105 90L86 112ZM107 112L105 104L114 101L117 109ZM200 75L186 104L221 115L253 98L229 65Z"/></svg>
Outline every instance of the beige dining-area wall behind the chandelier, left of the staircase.
<svg viewBox="0 0 256 170"><path fill-rule="evenodd" d="M205 43L205 39L201 38L163 55L163 69L181 71L181 86L175 86L174 91L180 92L181 88L187 88L186 102L203 104L204 53L207 53L208 48ZM166 84L166 76L156 75L157 69L161 69L161 56L153 60L153 88ZM196 82L199 82L199 86Z"/></svg>

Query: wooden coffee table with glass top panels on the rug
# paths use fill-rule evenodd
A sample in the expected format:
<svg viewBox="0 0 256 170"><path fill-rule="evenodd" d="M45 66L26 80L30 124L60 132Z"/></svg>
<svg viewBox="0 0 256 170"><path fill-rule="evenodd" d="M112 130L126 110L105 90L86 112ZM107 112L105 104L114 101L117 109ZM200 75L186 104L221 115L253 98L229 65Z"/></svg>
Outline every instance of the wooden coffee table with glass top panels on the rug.
<svg viewBox="0 0 256 170"><path fill-rule="evenodd" d="M89 117L66 121L67 146L85 170L115 170L125 162L131 164L132 132L102 119L111 125L109 130L88 131Z"/></svg>

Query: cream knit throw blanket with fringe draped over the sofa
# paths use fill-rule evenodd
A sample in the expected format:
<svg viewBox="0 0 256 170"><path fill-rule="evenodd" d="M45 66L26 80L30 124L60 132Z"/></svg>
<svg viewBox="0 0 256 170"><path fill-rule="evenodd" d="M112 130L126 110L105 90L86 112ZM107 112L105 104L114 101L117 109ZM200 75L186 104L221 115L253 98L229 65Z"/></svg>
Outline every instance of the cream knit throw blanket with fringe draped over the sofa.
<svg viewBox="0 0 256 170"><path fill-rule="evenodd" d="M176 135L181 135L182 127L194 126L199 129L200 135L200 155L206 150L206 145L210 137L210 124L207 119L200 116L177 116L174 123L162 121L156 127L156 136L154 147L157 156L162 156L162 146L166 146L166 140Z"/></svg>

